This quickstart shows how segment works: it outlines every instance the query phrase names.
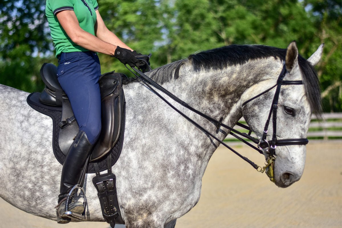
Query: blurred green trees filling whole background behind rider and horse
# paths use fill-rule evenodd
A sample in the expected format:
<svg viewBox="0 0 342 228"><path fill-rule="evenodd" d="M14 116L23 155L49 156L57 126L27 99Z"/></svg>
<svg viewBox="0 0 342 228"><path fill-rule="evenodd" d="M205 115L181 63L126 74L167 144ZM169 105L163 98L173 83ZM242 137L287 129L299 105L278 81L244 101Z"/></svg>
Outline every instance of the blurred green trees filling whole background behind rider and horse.
<svg viewBox="0 0 342 228"><path fill-rule="evenodd" d="M0 2L0 83L27 91L40 88L40 65L54 59L44 4L43 0ZM98 0L98 4L111 31L138 52L153 54L153 68L229 44L286 48L296 40L299 52L308 58L325 43L316 66L324 111L342 111L341 0ZM132 76L115 58L99 56L103 73L116 70Z"/></svg>

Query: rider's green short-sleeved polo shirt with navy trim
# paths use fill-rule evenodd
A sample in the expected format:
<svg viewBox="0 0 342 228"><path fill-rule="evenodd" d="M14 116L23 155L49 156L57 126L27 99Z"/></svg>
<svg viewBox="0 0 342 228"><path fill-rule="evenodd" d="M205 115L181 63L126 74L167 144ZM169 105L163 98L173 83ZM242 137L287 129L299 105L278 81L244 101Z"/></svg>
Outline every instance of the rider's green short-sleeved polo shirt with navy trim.
<svg viewBox="0 0 342 228"><path fill-rule="evenodd" d="M75 44L68 37L56 14L63 10L73 10L76 14L80 27L95 36L94 26L96 23L95 10L98 9L96 0L47 0L45 15L48 18L51 37L56 49L56 57L62 52L88 51Z"/></svg>

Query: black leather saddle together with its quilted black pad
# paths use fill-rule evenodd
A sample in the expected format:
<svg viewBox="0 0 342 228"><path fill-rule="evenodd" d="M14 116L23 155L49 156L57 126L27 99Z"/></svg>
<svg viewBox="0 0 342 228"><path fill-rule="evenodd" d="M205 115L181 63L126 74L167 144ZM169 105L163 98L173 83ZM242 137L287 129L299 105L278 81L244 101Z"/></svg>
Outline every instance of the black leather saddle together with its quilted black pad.
<svg viewBox="0 0 342 228"><path fill-rule="evenodd" d="M46 88L41 93L31 93L27 103L35 110L48 115L53 120L53 151L58 162L63 164L74 137L78 133L78 124L71 109L68 97L57 80L57 67L44 63L40 75ZM88 173L94 173L93 163L98 163L100 171L107 169L107 156L111 164L118 160L125 128L125 99L122 89L122 73L108 72L100 77L102 130L92 151Z"/></svg>

